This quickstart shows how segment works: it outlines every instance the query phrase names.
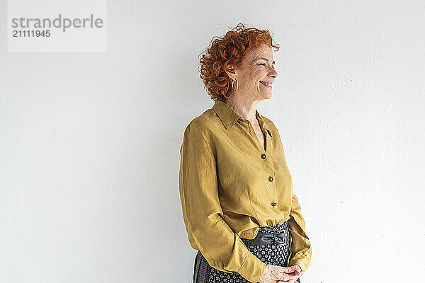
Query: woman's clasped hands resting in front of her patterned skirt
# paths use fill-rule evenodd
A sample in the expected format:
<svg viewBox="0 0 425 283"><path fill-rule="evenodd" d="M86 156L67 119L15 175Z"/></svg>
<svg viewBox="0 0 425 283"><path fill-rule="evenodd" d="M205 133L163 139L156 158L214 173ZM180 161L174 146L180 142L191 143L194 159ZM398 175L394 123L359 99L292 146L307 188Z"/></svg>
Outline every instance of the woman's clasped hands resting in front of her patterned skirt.
<svg viewBox="0 0 425 283"><path fill-rule="evenodd" d="M263 275L261 275L260 283L276 283L276 282L290 282L297 281L298 277L302 276L304 271L300 272L298 265L290 267L281 267L277 265L266 265Z"/></svg>

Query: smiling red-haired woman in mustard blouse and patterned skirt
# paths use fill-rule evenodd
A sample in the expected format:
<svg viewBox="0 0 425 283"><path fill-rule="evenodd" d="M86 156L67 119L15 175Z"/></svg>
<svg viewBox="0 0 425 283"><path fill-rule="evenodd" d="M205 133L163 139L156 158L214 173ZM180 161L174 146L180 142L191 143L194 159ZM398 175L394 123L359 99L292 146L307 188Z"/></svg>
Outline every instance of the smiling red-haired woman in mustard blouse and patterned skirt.
<svg viewBox="0 0 425 283"><path fill-rule="evenodd" d="M271 98L273 40L239 24L212 40L200 77L212 108L186 127L179 190L193 282L300 282L311 246L282 141L256 105Z"/></svg>

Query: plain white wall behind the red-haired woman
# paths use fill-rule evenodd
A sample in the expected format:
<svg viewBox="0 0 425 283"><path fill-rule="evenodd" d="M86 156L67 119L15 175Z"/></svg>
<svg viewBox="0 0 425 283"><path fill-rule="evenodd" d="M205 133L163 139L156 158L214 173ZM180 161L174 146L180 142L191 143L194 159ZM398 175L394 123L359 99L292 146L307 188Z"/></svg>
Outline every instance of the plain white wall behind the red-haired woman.
<svg viewBox="0 0 425 283"><path fill-rule="evenodd" d="M6 1L0 0L1 16ZM0 282L191 282L179 147L212 36L271 30L303 282L424 278L424 1L108 1L108 52L6 52ZM171 238L170 238L171 236Z"/></svg>

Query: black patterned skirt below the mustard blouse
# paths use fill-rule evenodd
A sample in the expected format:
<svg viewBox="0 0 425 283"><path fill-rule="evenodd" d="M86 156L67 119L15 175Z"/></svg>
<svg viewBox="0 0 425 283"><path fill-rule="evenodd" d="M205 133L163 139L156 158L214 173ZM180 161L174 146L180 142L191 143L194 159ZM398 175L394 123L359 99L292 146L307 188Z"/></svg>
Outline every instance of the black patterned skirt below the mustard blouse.
<svg viewBox="0 0 425 283"><path fill-rule="evenodd" d="M267 265L286 267L290 255L290 231L288 221L274 227L259 227L259 232L262 233L272 233L273 231L282 230L285 231L285 243L283 245L269 244L247 246L246 248ZM243 243L246 244L248 241L248 239L242 238ZM301 282L299 278L297 282ZM193 270L193 283L249 283L249 281L237 272L224 272L211 267L202 253L198 250Z"/></svg>

